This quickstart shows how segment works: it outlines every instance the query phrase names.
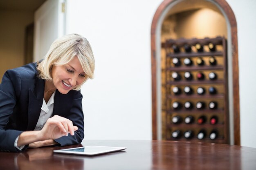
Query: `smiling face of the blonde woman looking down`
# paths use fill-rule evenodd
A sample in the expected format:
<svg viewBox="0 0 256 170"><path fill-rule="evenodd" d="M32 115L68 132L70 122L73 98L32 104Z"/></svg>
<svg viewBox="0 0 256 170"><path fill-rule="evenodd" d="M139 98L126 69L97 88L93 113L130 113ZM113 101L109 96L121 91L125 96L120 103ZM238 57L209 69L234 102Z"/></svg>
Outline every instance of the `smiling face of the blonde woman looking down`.
<svg viewBox="0 0 256 170"><path fill-rule="evenodd" d="M62 94L81 85L85 81L85 73L77 57L63 66L52 67L54 86Z"/></svg>

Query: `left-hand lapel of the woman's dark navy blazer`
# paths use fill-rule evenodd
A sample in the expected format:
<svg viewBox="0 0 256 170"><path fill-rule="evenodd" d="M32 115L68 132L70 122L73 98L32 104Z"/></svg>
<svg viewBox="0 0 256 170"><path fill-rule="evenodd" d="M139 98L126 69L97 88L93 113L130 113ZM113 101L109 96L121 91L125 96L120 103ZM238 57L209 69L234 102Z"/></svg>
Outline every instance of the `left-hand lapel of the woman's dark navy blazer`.
<svg viewBox="0 0 256 170"><path fill-rule="evenodd" d="M34 130L43 105L45 80L35 79L34 89L29 88L29 109L27 130Z"/></svg>

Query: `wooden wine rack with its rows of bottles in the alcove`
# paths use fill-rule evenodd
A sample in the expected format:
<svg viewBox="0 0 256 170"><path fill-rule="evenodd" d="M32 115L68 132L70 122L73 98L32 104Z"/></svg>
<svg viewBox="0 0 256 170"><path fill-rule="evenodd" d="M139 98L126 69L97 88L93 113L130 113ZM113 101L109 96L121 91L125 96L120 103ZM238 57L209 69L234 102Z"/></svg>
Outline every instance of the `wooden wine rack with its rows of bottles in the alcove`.
<svg viewBox="0 0 256 170"><path fill-rule="evenodd" d="M229 144L225 38L170 39L163 45L163 138Z"/></svg>

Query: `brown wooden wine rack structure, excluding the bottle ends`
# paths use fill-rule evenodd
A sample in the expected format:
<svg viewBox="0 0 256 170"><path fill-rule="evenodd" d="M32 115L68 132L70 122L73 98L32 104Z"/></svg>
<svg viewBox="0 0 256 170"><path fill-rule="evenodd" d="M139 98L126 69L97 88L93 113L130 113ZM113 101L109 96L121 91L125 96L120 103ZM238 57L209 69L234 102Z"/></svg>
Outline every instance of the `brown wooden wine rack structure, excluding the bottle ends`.
<svg viewBox="0 0 256 170"><path fill-rule="evenodd" d="M208 48L209 43L213 44L216 49L210 50ZM203 51L196 51L196 44L200 44L203 47ZM177 46L180 51L174 52L173 45ZM191 46L191 52L186 52L184 45ZM178 39L178 40L166 40L162 43L162 47L166 51L165 60L165 83L162 84L162 88L166 93L164 108L162 109L166 114L164 117L165 131L163 139L166 140L180 140L180 141L204 141L213 143L224 143L229 144L229 106L228 106L228 86L227 86L227 57L226 57L226 40L223 37L216 38L204 38L204 39ZM209 57L215 57L216 65L209 64ZM204 65L196 64L197 58L200 57L204 61ZM180 61L180 66L175 66L172 59L177 58ZM193 64L191 66L186 66L183 63L185 58L189 58ZM192 80L186 80L184 78L184 72L189 71L193 75ZM173 72L179 73L181 76L180 80L175 80L171 77ZM203 73L204 79L198 80L195 75L197 73ZM217 75L217 79L211 80L208 77L209 72L214 72ZM180 94L174 94L172 88L176 86L182 91ZM193 90L193 94L187 95L184 93L184 86L190 86ZM218 86L217 94L209 94L208 87ZM197 94L197 88L203 87L205 89L205 94ZM193 108L184 108L184 102L189 101L193 104ZM206 105L209 101L217 101L218 107L216 109L209 109L205 106L204 109L195 108L196 102L204 102ZM180 102L182 108L174 109L172 106L173 102ZM184 119L187 116L194 117L194 122L192 124L185 124ZM201 115L207 117L204 124L198 124L197 118ZM180 117L182 121L179 124L174 124L172 118L174 116ZM216 124L210 124L210 117L218 117ZM181 136L175 138L172 133L176 130L181 132ZM191 139L186 139L183 133L187 130L193 131L193 137ZM204 139L198 139L197 133L200 130L206 132ZM209 133L212 130L218 132L216 139L210 139Z"/></svg>

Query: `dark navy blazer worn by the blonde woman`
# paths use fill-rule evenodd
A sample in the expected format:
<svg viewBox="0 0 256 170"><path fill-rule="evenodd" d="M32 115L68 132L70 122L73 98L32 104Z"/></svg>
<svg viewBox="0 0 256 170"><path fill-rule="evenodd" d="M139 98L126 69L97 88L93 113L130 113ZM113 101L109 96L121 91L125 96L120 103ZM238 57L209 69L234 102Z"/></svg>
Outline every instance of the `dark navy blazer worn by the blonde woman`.
<svg viewBox="0 0 256 170"><path fill-rule="evenodd" d="M45 80L37 77L36 63L8 70L0 84L0 150L17 152L15 139L23 131L34 130L43 104ZM78 127L75 135L56 139L59 146L83 140L83 110L80 91L63 95L56 90L53 115L70 119ZM27 147L27 146L26 146ZM25 148L26 148L25 147Z"/></svg>

